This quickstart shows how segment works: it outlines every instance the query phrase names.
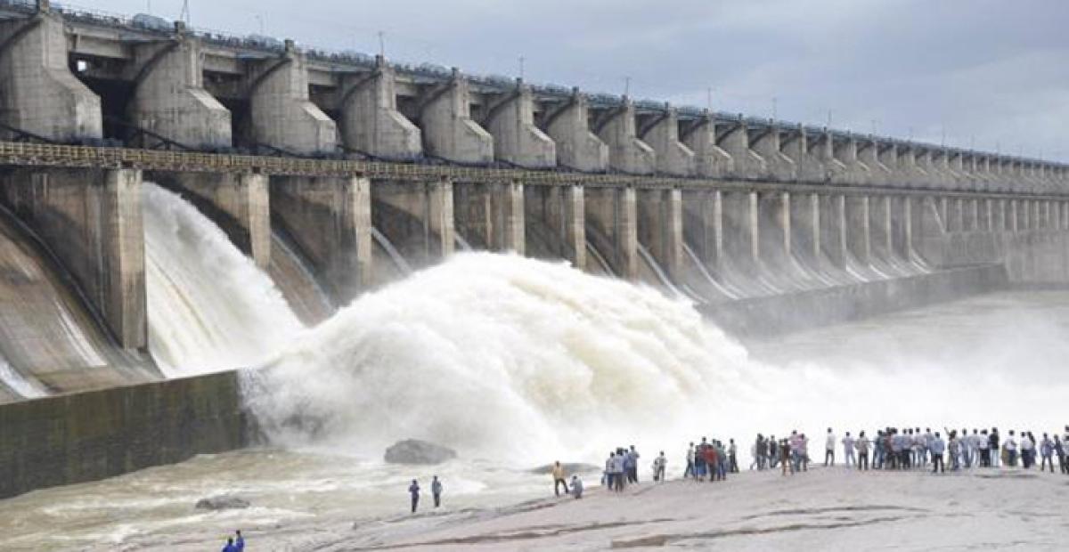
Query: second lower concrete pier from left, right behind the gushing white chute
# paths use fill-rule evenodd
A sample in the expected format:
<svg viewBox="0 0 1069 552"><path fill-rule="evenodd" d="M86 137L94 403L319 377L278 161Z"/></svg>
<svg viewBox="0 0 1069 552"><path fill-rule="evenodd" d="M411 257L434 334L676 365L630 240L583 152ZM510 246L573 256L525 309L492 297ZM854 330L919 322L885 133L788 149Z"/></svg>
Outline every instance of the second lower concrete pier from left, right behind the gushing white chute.
<svg viewBox="0 0 1069 552"><path fill-rule="evenodd" d="M212 219L257 266L270 264L270 196L267 176L255 173L152 173Z"/></svg>

